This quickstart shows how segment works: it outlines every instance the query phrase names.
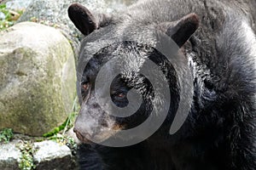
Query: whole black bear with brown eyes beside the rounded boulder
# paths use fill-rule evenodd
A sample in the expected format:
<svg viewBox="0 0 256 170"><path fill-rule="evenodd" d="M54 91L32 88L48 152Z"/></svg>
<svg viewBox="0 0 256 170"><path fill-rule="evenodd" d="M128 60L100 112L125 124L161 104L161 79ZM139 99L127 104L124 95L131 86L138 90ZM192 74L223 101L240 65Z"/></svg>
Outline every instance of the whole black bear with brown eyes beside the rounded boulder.
<svg viewBox="0 0 256 170"><path fill-rule="evenodd" d="M84 142L79 150L80 168L255 170L255 8L255 0L148 0L110 15L92 14L73 3L69 17L85 36L78 67L81 110L74 127ZM176 42L177 65L155 47L152 29ZM96 82L101 82L97 75L109 60L119 57L129 60L129 65L117 62L114 66L124 70L117 75L115 68L105 70L106 80L114 77L108 99L124 109L132 102L131 89L142 96L137 111L127 117L110 115L111 110L102 108L96 97ZM145 58L159 65L168 79L172 99L165 121L137 144L110 147L91 143L91 139L104 141L117 135L113 132L139 126L154 110L153 82L134 71L140 70ZM136 68L129 68L132 65ZM190 81L177 69L192 77L192 98L181 95L179 80ZM186 94L190 89L183 90ZM182 99L191 100L188 116L170 134Z"/></svg>

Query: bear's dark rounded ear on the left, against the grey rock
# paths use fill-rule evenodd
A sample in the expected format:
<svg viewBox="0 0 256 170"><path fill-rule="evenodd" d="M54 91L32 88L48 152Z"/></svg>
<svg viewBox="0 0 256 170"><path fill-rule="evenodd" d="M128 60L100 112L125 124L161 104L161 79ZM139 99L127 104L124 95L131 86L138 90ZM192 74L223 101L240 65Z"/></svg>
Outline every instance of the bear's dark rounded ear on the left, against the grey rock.
<svg viewBox="0 0 256 170"><path fill-rule="evenodd" d="M97 24L95 17L90 11L79 3L73 3L67 9L68 16L73 24L81 31L84 36L96 30Z"/></svg>

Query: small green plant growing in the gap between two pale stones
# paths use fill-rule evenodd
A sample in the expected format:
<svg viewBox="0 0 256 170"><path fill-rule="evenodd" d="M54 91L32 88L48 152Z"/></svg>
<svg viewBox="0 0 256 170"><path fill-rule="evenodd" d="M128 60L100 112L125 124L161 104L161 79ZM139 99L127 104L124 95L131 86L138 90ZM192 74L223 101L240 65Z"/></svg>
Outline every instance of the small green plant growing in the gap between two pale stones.
<svg viewBox="0 0 256 170"><path fill-rule="evenodd" d="M33 154L35 153L34 145L30 141L24 141L19 146L21 151L21 157L19 162L20 170L32 170L36 168L33 160Z"/></svg>

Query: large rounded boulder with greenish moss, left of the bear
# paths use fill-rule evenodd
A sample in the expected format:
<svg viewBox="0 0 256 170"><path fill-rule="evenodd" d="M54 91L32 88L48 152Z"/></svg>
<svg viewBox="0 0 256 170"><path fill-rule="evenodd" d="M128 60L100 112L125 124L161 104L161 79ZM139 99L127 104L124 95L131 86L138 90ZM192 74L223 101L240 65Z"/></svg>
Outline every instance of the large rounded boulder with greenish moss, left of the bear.
<svg viewBox="0 0 256 170"><path fill-rule="evenodd" d="M76 76L60 31L23 22L1 33L0 72L0 129L41 136L65 121Z"/></svg>

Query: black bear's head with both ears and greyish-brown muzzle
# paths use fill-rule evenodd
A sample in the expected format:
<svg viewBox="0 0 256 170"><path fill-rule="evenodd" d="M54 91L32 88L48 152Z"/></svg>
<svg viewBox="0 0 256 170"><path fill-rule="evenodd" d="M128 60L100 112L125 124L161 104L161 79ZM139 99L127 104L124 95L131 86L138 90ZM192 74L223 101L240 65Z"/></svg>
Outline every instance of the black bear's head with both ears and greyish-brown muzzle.
<svg viewBox="0 0 256 170"><path fill-rule="evenodd" d="M86 36L81 42L77 72L81 109L74 132L78 138L82 142L119 139L125 143L147 139L159 127L170 128L185 84L177 75L186 77L189 72L188 59L179 49L197 30L197 15L146 25L125 16L124 20L94 16L78 3L68 8L68 14ZM160 42L165 47L162 51L159 37L172 38L171 42ZM175 53L172 61L166 59L166 47ZM106 144L111 145L109 142Z"/></svg>

